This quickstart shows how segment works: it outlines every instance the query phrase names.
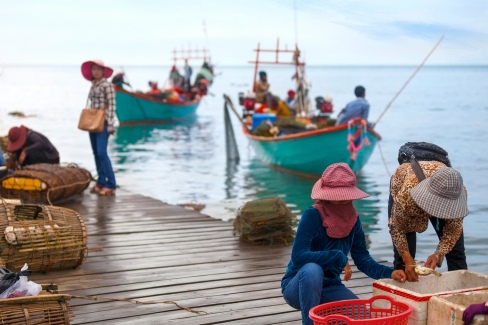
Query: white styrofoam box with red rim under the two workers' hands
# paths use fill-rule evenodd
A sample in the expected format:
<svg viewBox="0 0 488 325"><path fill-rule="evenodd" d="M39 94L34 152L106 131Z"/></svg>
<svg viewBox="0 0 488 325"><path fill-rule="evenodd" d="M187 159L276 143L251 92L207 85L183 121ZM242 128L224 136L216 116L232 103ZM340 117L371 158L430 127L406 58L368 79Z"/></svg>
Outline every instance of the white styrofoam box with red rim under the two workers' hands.
<svg viewBox="0 0 488 325"><path fill-rule="evenodd" d="M393 279L373 282L374 295L388 295L413 307L408 325L427 324L427 303L433 296L488 289L488 275L468 270L450 271L437 277L419 275L419 282L400 283Z"/></svg>

